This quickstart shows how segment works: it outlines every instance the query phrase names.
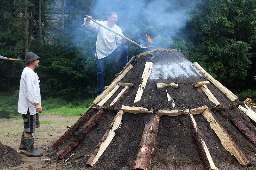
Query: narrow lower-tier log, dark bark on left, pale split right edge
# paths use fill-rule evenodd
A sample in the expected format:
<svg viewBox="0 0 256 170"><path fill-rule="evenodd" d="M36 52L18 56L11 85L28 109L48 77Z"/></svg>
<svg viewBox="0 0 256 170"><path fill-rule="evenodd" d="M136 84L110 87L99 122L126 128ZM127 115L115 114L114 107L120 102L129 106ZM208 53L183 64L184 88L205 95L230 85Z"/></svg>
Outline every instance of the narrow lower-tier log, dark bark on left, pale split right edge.
<svg viewBox="0 0 256 170"><path fill-rule="evenodd" d="M191 124L193 125L192 137L195 141L197 152L199 154L201 161L203 162L205 170L217 170L204 140L201 138L201 136L198 133L197 124L193 115L189 113L188 118L191 121Z"/></svg>

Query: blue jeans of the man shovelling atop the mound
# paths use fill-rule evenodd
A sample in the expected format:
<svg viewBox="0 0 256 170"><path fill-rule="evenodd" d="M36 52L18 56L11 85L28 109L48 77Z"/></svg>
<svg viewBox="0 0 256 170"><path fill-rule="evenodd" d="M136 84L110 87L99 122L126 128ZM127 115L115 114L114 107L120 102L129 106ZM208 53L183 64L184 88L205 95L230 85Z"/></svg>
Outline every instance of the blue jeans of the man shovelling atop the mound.
<svg viewBox="0 0 256 170"><path fill-rule="evenodd" d="M113 60L114 57L120 54L119 59L119 70L128 62L128 47L121 45L117 46L116 50L113 53L109 54L107 57L97 60L97 96L99 96L104 91L104 77L105 77L105 69L106 63L108 60Z"/></svg>

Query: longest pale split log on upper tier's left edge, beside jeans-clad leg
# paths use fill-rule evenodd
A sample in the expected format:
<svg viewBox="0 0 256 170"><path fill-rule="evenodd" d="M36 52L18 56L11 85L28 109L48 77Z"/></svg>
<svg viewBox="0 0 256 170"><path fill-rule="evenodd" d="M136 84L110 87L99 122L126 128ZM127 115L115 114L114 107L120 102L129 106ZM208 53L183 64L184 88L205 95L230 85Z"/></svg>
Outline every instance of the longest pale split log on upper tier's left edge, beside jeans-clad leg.
<svg viewBox="0 0 256 170"><path fill-rule="evenodd" d="M120 81L125 74L132 69L132 65L130 65L129 67L127 67L124 72L122 74L120 74L118 77L116 77L116 79L114 81L112 81L112 83L108 86L108 88L106 90L104 90L100 96L97 97L96 100L93 101L93 103L98 103L101 99L103 99L114 87L116 87L116 84L118 81Z"/></svg>

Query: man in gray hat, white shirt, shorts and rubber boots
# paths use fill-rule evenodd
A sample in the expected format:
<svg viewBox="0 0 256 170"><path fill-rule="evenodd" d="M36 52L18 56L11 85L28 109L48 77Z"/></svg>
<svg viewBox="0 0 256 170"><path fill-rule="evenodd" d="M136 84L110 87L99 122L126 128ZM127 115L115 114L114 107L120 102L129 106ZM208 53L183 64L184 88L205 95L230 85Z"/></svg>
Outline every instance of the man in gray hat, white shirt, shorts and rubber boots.
<svg viewBox="0 0 256 170"><path fill-rule="evenodd" d="M40 126L38 113L42 112L39 78L34 72L39 67L39 59L35 53L25 55L26 67L20 78L20 94L18 112L22 114L24 131L21 136L19 149L26 150L26 156L43 156L34 149L32 133Z"/></svg>

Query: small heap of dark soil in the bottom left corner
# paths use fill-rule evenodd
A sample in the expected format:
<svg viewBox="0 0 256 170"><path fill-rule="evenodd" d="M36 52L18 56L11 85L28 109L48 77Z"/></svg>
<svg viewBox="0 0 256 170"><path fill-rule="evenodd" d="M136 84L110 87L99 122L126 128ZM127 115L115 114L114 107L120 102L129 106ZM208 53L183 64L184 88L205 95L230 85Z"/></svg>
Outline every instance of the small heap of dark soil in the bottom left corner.
<svg viewBox="0 0 256 170"><path fill-rule="evenodd" d="M0 142L0 168L14 167L22 163L20 156L10 146Z"/></svg>

